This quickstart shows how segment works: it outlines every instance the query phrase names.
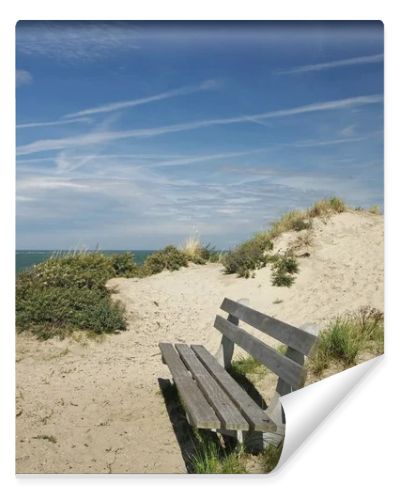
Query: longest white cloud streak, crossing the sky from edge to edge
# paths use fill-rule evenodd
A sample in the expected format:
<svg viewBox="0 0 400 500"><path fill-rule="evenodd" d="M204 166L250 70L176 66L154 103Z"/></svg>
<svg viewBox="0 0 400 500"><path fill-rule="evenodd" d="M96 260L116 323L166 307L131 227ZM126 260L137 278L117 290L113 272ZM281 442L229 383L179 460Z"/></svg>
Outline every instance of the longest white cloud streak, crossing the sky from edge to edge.
<svg viewBox="0 0 400 500"><path fill-rule="evenodd" d="M38 153L41 151L55 151L67 147L80 147L93 144L105 143L107 141L115 141L126 138L139 138L139 137L155 137L164 134L171 134L176 132L183 132L187 130L194 130L216 125L228 125L234 123L248 122L249 119L266 119L266 118L281 118L286 116L299 115L304 113L312 113L319 111L330 111L346 108L354 108L359 106L366 106L382 102L381 95L368 95L351 97L348 99L340 99L336 101L326 101L303 106L297 106L289 109L282 109L276 111L268 111L251 116L235 116L231 118L214 118L210 120L202 120L195 122L179 123L176 125L167 125L164 127L154 127L146 129L133 129L115 132L95 132L90 134L66 137L62 139L44 139L20 146L17 148L18 155L26 155Z"/></svg>

